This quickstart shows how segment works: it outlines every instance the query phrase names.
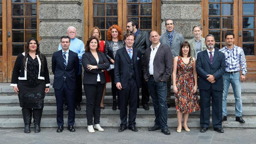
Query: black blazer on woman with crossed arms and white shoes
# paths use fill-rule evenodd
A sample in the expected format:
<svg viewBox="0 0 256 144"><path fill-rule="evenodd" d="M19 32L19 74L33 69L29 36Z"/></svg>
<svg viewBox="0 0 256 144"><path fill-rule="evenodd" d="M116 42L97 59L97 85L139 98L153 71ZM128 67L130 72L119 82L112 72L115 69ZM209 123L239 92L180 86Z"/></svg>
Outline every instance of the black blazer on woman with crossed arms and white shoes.
<svg viewBox="0 0 256 144"><path fill-rule="evenodd" d="M83 84L97 84L97 77L99 74L100 83L106 83L105 72L109 68L109 61L102 52L98 52L99 63L97 64L91 52L85 52L82 57L83 72ZM97 65L98 69L88 70L87 65Z"/></svg>

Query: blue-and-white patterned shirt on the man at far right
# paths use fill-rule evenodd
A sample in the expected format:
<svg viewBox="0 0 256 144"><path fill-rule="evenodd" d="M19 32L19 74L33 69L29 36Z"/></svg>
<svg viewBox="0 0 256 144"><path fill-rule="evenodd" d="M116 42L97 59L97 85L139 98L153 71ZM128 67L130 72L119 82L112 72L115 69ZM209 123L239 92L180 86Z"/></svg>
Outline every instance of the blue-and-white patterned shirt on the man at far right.
<svg viewBox="0 0 256 144"><path fill-rule="evenodd" d="M245 75L247 73L246 59L241 47L234 45L232 49L228 49L225 46L219 51L225 54L226 72L240 71L241 66L242 74Z"/></svg>

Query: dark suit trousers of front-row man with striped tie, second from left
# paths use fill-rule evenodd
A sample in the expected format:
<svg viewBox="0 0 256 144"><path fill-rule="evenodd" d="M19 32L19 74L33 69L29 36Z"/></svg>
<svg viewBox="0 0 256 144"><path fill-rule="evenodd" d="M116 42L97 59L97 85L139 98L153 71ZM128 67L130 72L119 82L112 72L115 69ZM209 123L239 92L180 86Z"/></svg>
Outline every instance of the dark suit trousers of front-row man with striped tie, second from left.
<svg viewBox="0 0 256 144"><path fill-rule="evenodd" d="M57 105L57 124L58 126L63 126L63 103L64 98L68 104L68 118L67 123L69 126L73 126L75 123L75 89L70 90L67 87L67 81L63 82L60 89L54 89Z"/></svg>

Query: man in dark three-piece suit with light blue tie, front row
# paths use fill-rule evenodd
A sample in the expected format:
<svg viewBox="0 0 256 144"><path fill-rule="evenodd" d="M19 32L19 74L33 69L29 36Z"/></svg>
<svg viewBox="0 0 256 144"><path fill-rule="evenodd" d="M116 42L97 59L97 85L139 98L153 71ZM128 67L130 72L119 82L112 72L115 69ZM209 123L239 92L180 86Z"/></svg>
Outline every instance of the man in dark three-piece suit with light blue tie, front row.
<svg viewBox="0 0 256 144"><path fill-rule="evenodd" d="M120 129L127 126L127 106L129 102L129 129L138 131L135 127L137 115L137 90L141 87L141 52L133 48L134 35L127 33L125 47L119 49L115 55L115 83L119 90L120 99Z"/></svg>

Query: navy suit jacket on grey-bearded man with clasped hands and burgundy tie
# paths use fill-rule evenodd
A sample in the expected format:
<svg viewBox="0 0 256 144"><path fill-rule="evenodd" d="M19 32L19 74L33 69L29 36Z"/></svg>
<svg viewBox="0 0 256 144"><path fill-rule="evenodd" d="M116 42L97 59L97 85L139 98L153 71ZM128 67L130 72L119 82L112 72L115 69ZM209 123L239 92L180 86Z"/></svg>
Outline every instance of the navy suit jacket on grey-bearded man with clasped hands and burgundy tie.
<svg viewBox="0 0 256 144"><path fill-rule="evenodd" d="M215 49L212 64L207 50L201 51L197 54L196 71L198 73L198 89L209 90L210 87L214 90L223 90L223 78L222 75L225 72L226 63L225 55ZM207 78L208 74L212 74L215 77L215 83L210 83Z"/></svg>

